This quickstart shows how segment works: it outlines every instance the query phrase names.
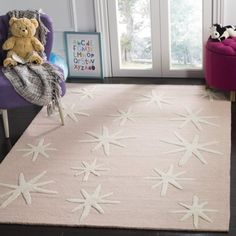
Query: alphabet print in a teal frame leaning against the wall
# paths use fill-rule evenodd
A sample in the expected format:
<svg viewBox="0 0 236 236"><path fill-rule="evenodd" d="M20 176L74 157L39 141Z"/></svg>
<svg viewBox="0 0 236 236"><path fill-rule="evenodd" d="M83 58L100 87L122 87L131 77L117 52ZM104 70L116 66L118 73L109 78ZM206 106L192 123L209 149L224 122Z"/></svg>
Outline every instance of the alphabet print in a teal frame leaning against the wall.
<svg viewBox="0 0 236 236"><path fill-rule="evenodd" d="M68 77L103 79L100 33L65 32L65 45Z"/></svg>

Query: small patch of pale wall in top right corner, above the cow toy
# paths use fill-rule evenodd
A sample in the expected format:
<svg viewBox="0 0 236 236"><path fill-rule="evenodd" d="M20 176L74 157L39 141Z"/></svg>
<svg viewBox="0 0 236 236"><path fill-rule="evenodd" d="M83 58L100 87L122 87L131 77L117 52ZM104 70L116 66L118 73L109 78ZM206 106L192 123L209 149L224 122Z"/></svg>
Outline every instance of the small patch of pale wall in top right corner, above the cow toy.
<svg viewBox="0 0 236 236"><path fill-rule="evenodd" d="M224 25L236 25L236 0L224 0Z"/></svg>

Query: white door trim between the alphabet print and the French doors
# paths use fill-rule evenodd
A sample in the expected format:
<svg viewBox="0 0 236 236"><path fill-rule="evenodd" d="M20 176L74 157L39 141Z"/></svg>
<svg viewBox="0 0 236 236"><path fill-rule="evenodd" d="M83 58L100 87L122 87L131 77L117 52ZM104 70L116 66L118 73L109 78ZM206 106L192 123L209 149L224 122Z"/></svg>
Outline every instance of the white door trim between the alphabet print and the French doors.
<svg viewBox="0 0 236 236"><path fill-rule="evenodd" d="M107 0L95 0L94 12L96 31L101 32L102 35L104 77L112 77L111 44L109 35L107 4Z"/></svg>

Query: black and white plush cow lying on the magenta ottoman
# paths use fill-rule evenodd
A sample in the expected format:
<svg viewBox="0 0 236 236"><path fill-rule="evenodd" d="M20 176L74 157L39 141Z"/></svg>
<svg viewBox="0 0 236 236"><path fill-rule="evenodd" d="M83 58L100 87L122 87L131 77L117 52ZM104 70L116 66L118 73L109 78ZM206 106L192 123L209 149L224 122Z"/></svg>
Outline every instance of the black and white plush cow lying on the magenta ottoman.
<svg viewBox="0 0 236 236"><path fill-rule="evenodd" d="M229 37L236 37L236 29L232 25L222 26L214 24L210 28L210 38L213 41L221 42Z"/></svg>

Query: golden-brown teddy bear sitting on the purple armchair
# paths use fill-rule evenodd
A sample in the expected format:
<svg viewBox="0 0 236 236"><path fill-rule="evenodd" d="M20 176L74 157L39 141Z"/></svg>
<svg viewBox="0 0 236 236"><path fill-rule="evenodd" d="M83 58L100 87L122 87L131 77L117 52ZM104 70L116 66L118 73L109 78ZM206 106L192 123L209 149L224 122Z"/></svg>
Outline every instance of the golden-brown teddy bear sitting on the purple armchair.
<svg viewBox="0 0 236 236"><path fill-rule="evenodd" d="M8 67L15 66L17 63L42 64L44 60L38 52L43 52L44 46L34 37L38 21L36 19L12 17L9 26L12 36L2 46L3 50L8 51L3 65Z"/></svg>

